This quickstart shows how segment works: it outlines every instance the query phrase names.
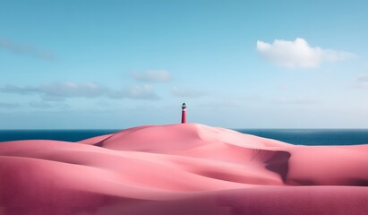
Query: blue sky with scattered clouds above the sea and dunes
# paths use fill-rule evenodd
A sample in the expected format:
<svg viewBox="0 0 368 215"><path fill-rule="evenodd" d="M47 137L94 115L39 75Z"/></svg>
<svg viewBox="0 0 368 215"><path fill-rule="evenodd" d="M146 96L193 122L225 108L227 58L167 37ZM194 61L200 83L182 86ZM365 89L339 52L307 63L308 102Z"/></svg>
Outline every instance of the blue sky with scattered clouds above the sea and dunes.
<svg viewBox="0 0 368 215"><path fill-rule="evenodd" d="M0 0L0 129L368 128L367 10Z"/></svg>

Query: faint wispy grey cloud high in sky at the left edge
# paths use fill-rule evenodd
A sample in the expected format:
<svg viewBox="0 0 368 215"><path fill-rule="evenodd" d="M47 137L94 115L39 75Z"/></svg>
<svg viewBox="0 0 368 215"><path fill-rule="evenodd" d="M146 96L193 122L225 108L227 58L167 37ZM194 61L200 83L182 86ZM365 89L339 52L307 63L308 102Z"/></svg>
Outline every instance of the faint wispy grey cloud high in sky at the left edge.
<svg viewBox="0 0 368 215"><path fill-rule="evenodd" d="M9 39L0 38L0 48L17 55L37 56L47 60L56 59L56 55L52 52L35 47L29 43L15 43Z"/></svg>

